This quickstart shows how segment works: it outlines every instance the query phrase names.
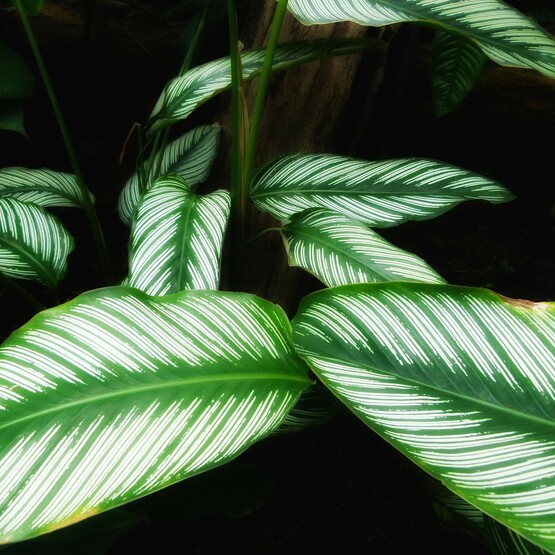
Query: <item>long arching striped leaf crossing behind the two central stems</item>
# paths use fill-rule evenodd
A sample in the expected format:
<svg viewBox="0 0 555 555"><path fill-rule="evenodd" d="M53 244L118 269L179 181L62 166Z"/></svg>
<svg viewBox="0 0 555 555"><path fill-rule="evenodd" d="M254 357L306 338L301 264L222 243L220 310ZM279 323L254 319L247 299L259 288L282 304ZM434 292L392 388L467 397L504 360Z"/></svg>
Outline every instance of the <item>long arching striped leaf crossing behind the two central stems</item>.
<svg viewBox="0 0 555 555"><path fill-rule="evenodd" d="M376 39L323 39L278 46L273 71L282 71L324 58L344 56L365 50L382 48ZM243 79L254 79L262 71L265 48L241 54ZM151 130L185 119L201 104L231 86L230 58L221 58L189 70L170 81L150 116Z"/></svg>

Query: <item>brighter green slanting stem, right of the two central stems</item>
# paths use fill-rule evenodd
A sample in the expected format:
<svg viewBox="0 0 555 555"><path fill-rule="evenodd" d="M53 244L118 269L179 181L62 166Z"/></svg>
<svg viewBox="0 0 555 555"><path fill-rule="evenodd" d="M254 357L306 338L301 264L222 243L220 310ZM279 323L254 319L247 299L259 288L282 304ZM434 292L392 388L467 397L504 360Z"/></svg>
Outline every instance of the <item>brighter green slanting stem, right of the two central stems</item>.
<svg viewBox="0 0 555 555"><path fill-rule="evenodd" d="M287 1L278 0L276 12L272 21L270 29L270 37L268 38L268 45L266 46L266 54L264 56L264 64L262 66L262 73L258 82L258 91L254 101L254 108L252 112L249 136L247 139L247 147L245 150L245 169L243 173L243 189L245 195L250 192L250 182L252 172L254 169L254 157L256 155L256 143L258 140L258 132L260 130L260 123L264 115L264 107L266 105L266 95L268 93L268 84L272 74L272 66L274 63L274 56L279 43L279 35L283 25L283 18L287 12Z"/></svg>

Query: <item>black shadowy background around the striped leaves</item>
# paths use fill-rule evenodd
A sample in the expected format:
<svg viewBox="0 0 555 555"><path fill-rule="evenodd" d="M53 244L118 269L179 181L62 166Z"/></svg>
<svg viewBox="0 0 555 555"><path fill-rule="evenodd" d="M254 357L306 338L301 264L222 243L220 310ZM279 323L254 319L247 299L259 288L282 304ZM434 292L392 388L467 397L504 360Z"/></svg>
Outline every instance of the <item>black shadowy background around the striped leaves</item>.
<svg viewBox="0 0 555 555"><path fill-rule="evenodd" d="M121 276L128 231L115 203L133 170L134 147L123 164L118 158L133 122L146 120L179 67L182 27L153 16L171 5L98 2L87 20L82 2L51 1L32 20ZM34 67L17 18L9 11L0 18L2 37ZM436 158L498 180L518 198L507 205L463 204L437 220L409 222L384 236L422 256L451 283L553 299L554 82L488 64L465 102L437 119L431 31L411 29L400 29L391 43L356 155ZM199 61L225 55L226 40L225 32L211 35ZM184 129L213 122L219 102L203 107ZM357 118L345 114L346 136ZM0 167L70 171L40 84L26 106L26 127L30 140L0 132ZM64 300L99 282L83 218L70 210L58 215L77 241L59 293ZM26 287L53 304L39 286ZM0 311L4 337L29 317L6 291L0 291ZM423 473L337 407L326 425L270 438L236 462L108 513L108 519L6 553L433 554L454 545L460 552L488 553L456 523L438 516L429 489Z"/></svg>

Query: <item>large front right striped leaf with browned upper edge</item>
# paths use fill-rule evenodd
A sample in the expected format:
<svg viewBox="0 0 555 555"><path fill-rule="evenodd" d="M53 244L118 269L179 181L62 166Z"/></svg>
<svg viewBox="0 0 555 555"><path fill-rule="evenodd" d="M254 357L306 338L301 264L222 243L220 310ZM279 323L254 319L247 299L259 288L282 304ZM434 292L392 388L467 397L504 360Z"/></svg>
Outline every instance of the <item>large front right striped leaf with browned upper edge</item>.
<svg viewBox="0 0 555 555"><path fill-rule="evenodd" d="M555 552L554 304L447 285L348 285L307 297L293 340L373 430Z"/></svg>

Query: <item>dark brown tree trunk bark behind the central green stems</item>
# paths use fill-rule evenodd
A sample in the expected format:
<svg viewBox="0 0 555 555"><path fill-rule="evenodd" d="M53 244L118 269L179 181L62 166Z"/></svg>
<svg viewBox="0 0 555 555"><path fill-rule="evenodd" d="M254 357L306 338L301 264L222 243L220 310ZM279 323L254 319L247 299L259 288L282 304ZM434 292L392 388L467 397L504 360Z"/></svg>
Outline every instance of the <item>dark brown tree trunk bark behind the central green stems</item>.
<svg viewBox="0 0 555 555"><path fill-rule="evenodd" d="M266 44L274 10L275 0L253 3L240 37L246 48ZM287 14L280 42L362 37L367 32L366 28L352 23L304 26ZM374 81L381 80L380 57L375 56L372 62L376 74L368 72ZM367 63L361 62L360 55L343 56L275 75L260 129L256 166L284 153L347 153L351 141L343 138L348 132L356 135L353 133L356 130L345 129L348 119L344 116L361 67L368 71ZM246 86L251 107L256 87L255 81ZM360 102L361 112L365 112L366 103L365 97ZM250 207L248 236L271 226L276 226L271 216ZM248 247L245 262L245 289L280 304L289 313L294 312L298 300L314 287L308 274L289 268L278 234L266 235Z"/></svg>

